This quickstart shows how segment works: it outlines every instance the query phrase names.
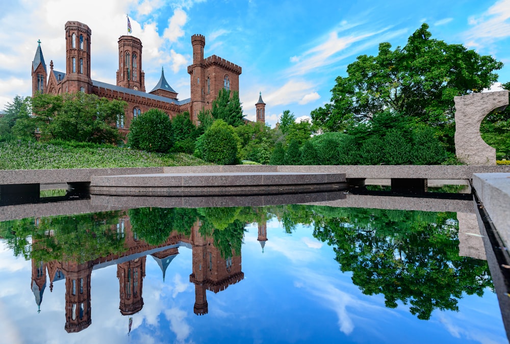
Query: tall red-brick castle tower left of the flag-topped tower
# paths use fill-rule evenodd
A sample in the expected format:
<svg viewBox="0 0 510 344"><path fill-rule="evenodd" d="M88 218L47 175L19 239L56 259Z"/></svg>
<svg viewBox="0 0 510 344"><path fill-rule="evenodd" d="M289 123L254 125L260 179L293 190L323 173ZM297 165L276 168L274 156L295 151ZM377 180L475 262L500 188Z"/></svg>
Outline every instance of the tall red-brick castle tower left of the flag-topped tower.
<svg viewBox="0 0 510 344"><path fill-rule="evenodd" d="M90 28L79 21L65 23L66 77L64 92L92 93L90 78Z"/></svg>

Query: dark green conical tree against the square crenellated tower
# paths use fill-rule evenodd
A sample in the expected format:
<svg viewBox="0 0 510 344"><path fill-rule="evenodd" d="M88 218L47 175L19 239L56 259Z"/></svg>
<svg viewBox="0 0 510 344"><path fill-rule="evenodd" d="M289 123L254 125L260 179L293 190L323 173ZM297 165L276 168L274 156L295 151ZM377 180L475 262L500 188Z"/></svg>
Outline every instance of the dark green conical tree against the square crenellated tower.
<svg viewBox="0 0 510 344"><path fill-rule="evenodd" d="M239 92L220 89L212 103L211 115L214 119L223 119L226 124L238 127L244 124L243 110L239 101Z"/></svg>

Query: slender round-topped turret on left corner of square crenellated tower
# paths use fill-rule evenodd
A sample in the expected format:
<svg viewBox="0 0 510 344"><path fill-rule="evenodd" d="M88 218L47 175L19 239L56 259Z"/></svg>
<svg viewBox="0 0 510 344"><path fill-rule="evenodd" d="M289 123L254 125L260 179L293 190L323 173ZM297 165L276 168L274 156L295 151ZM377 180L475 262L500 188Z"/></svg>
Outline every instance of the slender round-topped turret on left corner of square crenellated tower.
<svg viewBox="0 0 510 344"><path fill-rule="evenodd" d="M193 46L193 64L188 67L191 78L191 120L198 122L198 113L206 106L206 95L203 89L205 83L203 66L203 47L206 46L206 37L203 35L191 36Z"/></svg>

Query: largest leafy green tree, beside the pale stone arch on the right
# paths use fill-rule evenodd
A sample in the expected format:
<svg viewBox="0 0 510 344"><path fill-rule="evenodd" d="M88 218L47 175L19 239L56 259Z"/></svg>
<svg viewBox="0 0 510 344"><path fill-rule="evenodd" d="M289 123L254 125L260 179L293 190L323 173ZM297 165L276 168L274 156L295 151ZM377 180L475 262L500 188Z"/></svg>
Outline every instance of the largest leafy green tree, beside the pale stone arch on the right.
<svg viewBox="0 0 510 344"><path fill-rule="evenodd" d="M359 56L338 77L331 103L312 111L314 124L341 131L383 111L401 113L435 127L453 140L453 97L479 92L497 81L503 66L462 44L431 38L426 23L403 47L380 43L377 56Z"/></svg>

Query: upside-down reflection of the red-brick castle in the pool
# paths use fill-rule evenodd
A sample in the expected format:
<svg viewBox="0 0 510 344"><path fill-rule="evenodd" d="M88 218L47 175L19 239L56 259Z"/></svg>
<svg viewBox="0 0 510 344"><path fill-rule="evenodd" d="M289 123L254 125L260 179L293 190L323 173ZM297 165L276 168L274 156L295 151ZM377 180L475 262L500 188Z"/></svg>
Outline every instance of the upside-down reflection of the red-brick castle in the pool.
<svg viewBox="0 0 510 344"><path fill-rule="evenodd" d="M232 256L223 258L214 246L213 239L200 234L198 221L191 228L191 235L172 232L160 245L149 245L143 240L138 240L127 216L120 218L116 227L119 239L123 238L125 242L126 251L122 254L112 254L84 263L67 261L44 263L32 259L31 287L39 311L47 276L50 291L53 291L55 282L65 280L65 330L69 333L80 332L92 323L90 282L93 269L117 265L119 309L122 315L135 314L143 307L142 287L147 255L151 255L161 267L164 280L168 265L179 254L179 247L192 249L190 282L195 285L193 311L197 315L208 313L207 290L217 293L244 279L241 255L233 253ZM265 223L259 224L258 240L264 249L267 241Z"/></svg>

